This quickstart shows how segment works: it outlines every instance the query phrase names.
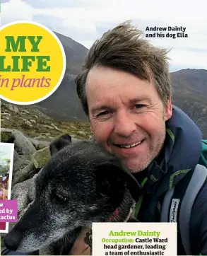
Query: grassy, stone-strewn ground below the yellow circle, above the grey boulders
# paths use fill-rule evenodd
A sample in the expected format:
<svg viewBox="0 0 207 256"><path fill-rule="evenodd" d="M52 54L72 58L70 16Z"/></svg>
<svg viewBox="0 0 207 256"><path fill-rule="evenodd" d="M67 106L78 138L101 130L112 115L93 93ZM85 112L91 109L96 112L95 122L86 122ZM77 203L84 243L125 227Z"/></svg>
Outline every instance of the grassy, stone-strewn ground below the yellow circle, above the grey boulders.
<svg viewBox="0 0 207 256"><path fill-rule="evenodd" d="M1 100L1 128L17 129L35 140L51 141L61 134L70 134L77 139L89 139L89 122L61 122L42 113L34 105L13 105ZM2 141L5 140L1 132Z"/></svg>

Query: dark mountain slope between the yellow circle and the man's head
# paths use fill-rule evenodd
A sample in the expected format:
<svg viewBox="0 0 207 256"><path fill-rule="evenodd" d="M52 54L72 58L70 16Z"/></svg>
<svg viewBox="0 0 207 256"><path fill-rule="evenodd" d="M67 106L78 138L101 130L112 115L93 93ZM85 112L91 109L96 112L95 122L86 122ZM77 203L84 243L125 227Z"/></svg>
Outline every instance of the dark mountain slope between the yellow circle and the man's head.
<svg viewBox="0 0 207 256"><path fill-rule="evenodd" d="M59 33L55 33L66 53L66 72L64 78L49 98L36 105L43 107L45 114L57 120L87 121L76 93L75 78L81 71L88 49L83 45Z"/></svg>

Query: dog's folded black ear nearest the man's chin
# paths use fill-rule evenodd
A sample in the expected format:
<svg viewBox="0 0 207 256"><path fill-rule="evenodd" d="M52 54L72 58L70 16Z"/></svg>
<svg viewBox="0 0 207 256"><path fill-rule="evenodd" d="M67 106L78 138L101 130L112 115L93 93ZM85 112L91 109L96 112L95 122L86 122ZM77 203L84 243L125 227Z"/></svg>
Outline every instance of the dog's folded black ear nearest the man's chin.
<svg viewBox="0 0 207 256"><path fill-rule="evenodd" d="M97 187L102 196L116 199L127 187L135 201L141 190L134 175L114 163L103 163L97 167Z"/></svg>

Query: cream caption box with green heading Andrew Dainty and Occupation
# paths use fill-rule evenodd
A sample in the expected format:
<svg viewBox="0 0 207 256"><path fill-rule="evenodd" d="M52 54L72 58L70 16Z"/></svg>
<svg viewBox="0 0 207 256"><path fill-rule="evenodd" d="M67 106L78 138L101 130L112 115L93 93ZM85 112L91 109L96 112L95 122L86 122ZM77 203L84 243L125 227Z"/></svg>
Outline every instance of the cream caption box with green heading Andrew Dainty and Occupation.
<svg viewBox="0 0 207 256"><path fill-rule="evenodd" d="M93 223L93 256L177 255L177 223Z"/></svg>

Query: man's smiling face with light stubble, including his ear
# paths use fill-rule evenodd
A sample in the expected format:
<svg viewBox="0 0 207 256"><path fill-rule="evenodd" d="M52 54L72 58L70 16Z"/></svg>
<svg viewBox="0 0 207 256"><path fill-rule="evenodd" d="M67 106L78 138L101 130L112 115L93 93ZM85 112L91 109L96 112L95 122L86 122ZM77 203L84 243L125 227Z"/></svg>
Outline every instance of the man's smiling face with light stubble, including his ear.
<svg viewBox="0 0 207 256"><path fill-rule="evenodd" d="M85 90L95 139L131 172L145 169L162 149L171 101L163 106L153 82L102 66L90 70Z"/></svg>

